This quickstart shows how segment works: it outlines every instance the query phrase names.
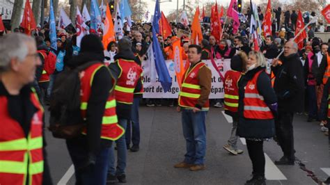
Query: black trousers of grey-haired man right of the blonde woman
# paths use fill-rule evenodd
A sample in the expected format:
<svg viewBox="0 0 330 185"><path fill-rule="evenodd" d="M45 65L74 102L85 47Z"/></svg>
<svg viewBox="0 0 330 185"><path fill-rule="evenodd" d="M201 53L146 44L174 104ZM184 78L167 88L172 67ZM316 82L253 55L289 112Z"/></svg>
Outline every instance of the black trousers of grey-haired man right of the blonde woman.
<svg viewBox="0 0 330 185"><path fill-rule="evenodd" d="M290 160L294 160L292 121L293 113L278 111L278 118L275 120L276 138L284 156Z"/></svg>

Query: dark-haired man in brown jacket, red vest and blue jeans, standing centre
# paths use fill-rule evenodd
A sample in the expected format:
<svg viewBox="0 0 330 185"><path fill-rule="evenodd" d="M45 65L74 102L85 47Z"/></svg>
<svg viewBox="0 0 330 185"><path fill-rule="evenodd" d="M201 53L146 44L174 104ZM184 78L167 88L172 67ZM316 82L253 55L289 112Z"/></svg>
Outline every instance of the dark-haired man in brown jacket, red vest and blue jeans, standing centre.
<svg viewBox="0 0 330 185"><path fill-rule="evenodd" d="M205 169L205 117L210 107L212 72L201 61L201 56L200 46L189 45L188 59L191 66L184 74L179 94L178 111L182 111L182 129L187 153L184 154L184 161L174 167L189 168L191 171Z"/></svg>

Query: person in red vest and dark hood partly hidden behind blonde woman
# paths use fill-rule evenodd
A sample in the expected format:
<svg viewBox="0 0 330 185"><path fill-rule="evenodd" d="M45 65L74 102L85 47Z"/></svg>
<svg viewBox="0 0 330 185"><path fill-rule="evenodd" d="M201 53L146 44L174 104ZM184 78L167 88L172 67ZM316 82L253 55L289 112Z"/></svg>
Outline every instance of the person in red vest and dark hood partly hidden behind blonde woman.
<svg viewBox="0 0 330 185"><path fill-rule="evenodd" d="M228 138L228 143L223 145L223 148L230 152L231 154L237 155L242 154L243 150L237 149L238 136L236 135L237 130L237 110L238 110L238 80L241 77L243 71L243 63L246 63L247 56L244 51L239 51L239 53L230 60L230 68L225 74L225 81L223 83L224 88L224 106L225 113L233 118L233 127L230 132L230 138Z"/></svg>

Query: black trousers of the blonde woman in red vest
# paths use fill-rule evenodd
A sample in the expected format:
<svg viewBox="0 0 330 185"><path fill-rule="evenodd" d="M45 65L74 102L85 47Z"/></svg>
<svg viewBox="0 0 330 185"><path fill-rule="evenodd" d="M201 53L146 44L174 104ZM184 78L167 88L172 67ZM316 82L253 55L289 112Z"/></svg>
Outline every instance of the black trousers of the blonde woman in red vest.
<svg viewBox="0 0 330 185"><path fill-rule="evenodd" d="M265 176L265 154L263 150L264 141L246 139L246 147L252 162L253 175Z"/></svg>

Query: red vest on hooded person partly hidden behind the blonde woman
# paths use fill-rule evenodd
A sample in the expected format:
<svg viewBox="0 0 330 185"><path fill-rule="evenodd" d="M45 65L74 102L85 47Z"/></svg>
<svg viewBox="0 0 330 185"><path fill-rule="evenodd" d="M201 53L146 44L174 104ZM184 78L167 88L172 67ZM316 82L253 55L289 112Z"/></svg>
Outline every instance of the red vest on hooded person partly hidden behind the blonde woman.
<svg viewBox="0 0 330 185"><path fill-rule="evenodd" d="M237 82L241 77L241 72L229 70L225 74L225 83L223 87L225 89L225 110L237 113L238 111L238 86Z"/></svg>

